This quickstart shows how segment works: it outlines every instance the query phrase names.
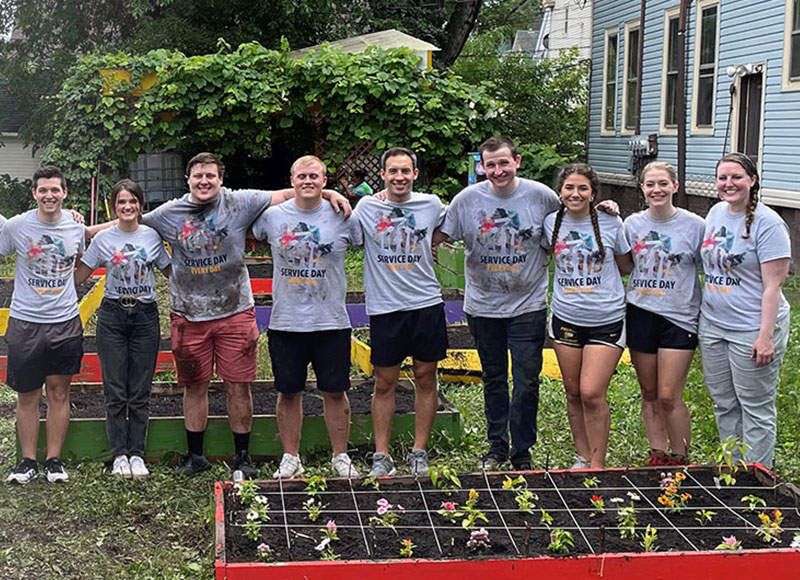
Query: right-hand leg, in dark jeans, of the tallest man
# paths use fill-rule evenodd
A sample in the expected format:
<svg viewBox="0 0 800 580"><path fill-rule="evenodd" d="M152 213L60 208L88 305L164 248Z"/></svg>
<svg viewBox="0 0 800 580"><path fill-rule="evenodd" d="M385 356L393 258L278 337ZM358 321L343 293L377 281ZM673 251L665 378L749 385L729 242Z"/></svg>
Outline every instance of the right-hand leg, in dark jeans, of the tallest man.
<svg viewBox="0 0 800 580"><path fill-rule="evenodd" d="M539 374L542 372L547 311L530 312L506 321L514 385L509 409L511 463L527 467L536 443Z"/></svg>

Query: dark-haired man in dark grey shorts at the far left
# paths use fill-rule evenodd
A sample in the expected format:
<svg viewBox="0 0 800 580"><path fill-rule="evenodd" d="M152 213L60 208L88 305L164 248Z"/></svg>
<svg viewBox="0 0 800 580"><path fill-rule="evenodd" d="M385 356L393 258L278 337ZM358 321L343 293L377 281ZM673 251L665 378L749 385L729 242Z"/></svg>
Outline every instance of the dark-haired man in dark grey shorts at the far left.
<svg viewBox="0 0 800 580"><path fill-rule="evenodd" d="M69 387L83 358L83 325L73 267L86 231L62 204L67 183L58 167L33 174L36 209L8 220L0 232L0 254L16 254L14 296L6 330L8 385L17 392L17 429L22 461L8 476L25 484L38 476L39 401L47 389L47 454L51 483L69 480L59 456L69 426Z"/></svg>

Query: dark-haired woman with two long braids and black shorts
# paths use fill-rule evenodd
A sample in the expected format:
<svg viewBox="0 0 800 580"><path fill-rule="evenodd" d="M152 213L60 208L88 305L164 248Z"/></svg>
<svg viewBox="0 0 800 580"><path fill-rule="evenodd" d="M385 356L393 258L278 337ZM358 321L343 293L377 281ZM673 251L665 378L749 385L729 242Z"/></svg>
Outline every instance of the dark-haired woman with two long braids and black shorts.
<svg viewBox="0 0 800 580"><path fill-rule="evenodd" d="M605 466L606 393L625 348L620 273L633 267L622 220L595 209L599 189L597 173L588 165L565 167L558 177L561 207L545 218L542 236L556 265L548 330L577 451L572 469Z"/></svg>

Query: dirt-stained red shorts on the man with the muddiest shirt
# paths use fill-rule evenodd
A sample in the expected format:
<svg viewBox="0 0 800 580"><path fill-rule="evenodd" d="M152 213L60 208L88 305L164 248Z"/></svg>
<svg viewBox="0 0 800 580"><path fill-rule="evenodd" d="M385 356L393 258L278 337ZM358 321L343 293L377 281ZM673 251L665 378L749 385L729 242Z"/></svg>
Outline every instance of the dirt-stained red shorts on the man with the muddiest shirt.
<svg viewBox="0 0 800 580"><path fill-rule="evenodd" d="M223 380L232 383L256 380L258 326L255 309L202 322L192 322L171 313L170 323L179 384L210 381L215 365L217 376Z"/></svg>

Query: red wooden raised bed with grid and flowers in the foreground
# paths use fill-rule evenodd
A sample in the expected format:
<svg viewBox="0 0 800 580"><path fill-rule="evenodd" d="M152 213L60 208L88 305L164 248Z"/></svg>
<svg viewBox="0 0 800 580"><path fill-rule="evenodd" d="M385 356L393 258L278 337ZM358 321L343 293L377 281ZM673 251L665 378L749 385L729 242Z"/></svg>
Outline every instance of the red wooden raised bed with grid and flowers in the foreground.
<svg viewBox="0 0 800 580"><path fill-rule="evenodd" d="M691 498L680 511L659 501L665 489L661 471L652 468L526 472L524 482L516 479L518 474L462 475L450 490L435 488L427 478L386 478L379 481L377 490L362 480L330 479L327 488L314 496L324 507L313 522L304 508L311 497L306 482L257 482L254 491L260 501L249 499L246 489L243 496L241 488L230 482L217 483L217 578L399 579L413 575L418 580L456 574L485 578L529 574L559 580L751 580L756 573L770 579L797 578L800 550L789 549L800 529L797 488L761 466L740 471L733 486L717 486L716 468L693 466L681 473L686 479L679 492ZM514 483L509 486L505 482L511 478ZM596 487L587 487L587 480ZM521 510L516 499L526 491L533 498L530 511ZM468 509L470 494L475 492ZM593 496L604 499L602 513L593 505ZM755 500L742 500L748 496L763 504L750 509L749 503ZM615 503L614 498L622 501ZM377 521L382 517L380 502L391 506L386 513L397 515L394 529ZM461 514L452 522L442 515L447 502L453 502ZM619 517L621 510L630 511L631 506L636 518L632 530ZM463 520L470 509L486 521L478 519L468 529ZM714 515L701 525L698 512L703 510ZM760 518L772 519L775 510L782 512L783 531L765 541L759 532L764 526ZM543 511L552 518L549 522L543 522ZM335 522L338 539L318 549L329 520ZM253 533L249 537L248 525ZM648 526L655 533L650 551L645 551ZM480 528L488 532L488 545L469 547L471 532ZM566 533L572 545L562 544L566 551L554 551L554 535L563 538ZM715 550L731 536L741 542L738 549ZM414 545L408 558L401 556L404 540ZM263 546L259 550L262 544L269 551ZM336 555L338 561L320 561L326 555Z"/></svg>

